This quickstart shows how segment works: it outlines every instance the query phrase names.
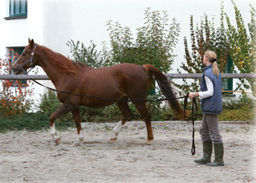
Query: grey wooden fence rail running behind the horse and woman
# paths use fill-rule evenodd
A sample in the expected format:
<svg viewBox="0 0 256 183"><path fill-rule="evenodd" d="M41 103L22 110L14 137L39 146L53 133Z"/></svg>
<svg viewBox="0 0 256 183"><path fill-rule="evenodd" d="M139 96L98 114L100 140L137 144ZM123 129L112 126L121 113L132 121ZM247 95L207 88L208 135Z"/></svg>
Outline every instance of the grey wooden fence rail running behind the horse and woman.
<svg viewBox="0 0 256 183"><path fill-rule="evenodd" d="M169 73L165 74L169 78L173 79L196 79L201 78L201 73L190 74L190 73ZM32 79L35 80L49 80L47 75L29 75ZM237 74L237 73L227 73L221 74L222 78L256 78L256 73L247 73L247 74ZM15 80L26 80L29 79L26 75L13 75L13 74L0 74L0 79L15 79Z"/></svg>

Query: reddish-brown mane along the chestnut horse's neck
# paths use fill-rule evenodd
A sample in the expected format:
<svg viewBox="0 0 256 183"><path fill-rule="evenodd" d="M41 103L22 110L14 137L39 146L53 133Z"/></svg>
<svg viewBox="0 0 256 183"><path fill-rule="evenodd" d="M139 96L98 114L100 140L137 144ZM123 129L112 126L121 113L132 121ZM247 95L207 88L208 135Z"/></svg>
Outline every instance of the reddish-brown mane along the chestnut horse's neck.
<svg viewBox="0 0 256 183"><path fill-rule="evenodd" d="M52 62L58 71L66 73L67 75L76 75L77 72L81 72L81 70L87 66L81 62L73 62L61 53L56 53L45 46L39 45L38 49L44 51L50 62Z"/></svg>

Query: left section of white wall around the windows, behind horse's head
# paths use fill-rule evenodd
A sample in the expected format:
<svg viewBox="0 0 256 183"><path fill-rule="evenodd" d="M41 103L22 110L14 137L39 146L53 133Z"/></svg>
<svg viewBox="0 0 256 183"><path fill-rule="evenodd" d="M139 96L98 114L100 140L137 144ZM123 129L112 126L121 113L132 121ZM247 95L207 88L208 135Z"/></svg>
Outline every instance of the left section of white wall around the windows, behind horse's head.
<svg viewBox="0 0 256 183"><path fill-rule="evenodd" d="M0 41L0 58L5 58L6 48L25 47L28 45L28 38L33 38L38 44L44 44L44 0L28 0L27 18L14 20L4 19L4 17L9 17L9 0L2 0L0 2L0 7L5 9L5 11L0 11L0 27L2 27L0 34L2 38ZM38 74L45 74L41 68L37 68ZM46 82L49 83L49 81ZM40 99L40 93L44 93L45 89L36 84L30 86L30 88L32 87L35 88L35 94L32 98L35 100ZM15 90L15 87L13 90Z"/></svg>

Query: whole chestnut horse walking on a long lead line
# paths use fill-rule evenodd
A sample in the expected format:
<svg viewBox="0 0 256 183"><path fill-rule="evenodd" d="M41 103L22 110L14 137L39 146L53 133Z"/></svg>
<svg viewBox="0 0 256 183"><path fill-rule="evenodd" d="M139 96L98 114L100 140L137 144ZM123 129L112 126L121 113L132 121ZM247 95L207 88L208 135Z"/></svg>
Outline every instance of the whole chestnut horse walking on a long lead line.
<svg viewBox="0 0 256 183"><path fill-rule="evenodd" d="M33 39L29 39L29 45L25 47L12 69L15 74L19 74L22 70L26 72L26 69L33 68L35 65L44 69L59 91L103 98L82 97L57 92L58 100L62 105L50 116L50 132L57 145L60 143L60 136L55 130L54 121L56 118L70 111L72 112L78 133L78 138L72 146L77 146L79 142L83 142L84 138L81 131L79 106L106 107L117 103L122 112L122 118L114 127L111 135L110 142L115 142L119 131L131 115L128 99L134 103L140 115L142 115L148 132L145 143L151 144L154 136L145 99L153 75L166 98L172 99L168 102L175 115L183 115L183 109L175 99L175 94L168 79L152 65L123 63L105 68L90 68L84 63L72 62L60 53L38 45L34 43Z"/></svg>

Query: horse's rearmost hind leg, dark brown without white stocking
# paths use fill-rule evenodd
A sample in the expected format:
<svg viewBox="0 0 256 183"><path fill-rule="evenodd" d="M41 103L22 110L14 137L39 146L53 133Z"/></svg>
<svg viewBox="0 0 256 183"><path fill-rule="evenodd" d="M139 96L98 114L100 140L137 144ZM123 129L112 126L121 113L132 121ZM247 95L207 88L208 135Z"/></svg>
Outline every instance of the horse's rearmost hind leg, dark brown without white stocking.
<svg viewBox="0 0 256 183"><path fill-rule="evenodd" d="M152 145L151 141L154 139L154 135L151 127L150 113L148 112L146 104L145 102L134 102L134 105L139 111L140 115L142 115L146 123L148 137L147 137L147 140L145 141L145 144Z"/></svg>

